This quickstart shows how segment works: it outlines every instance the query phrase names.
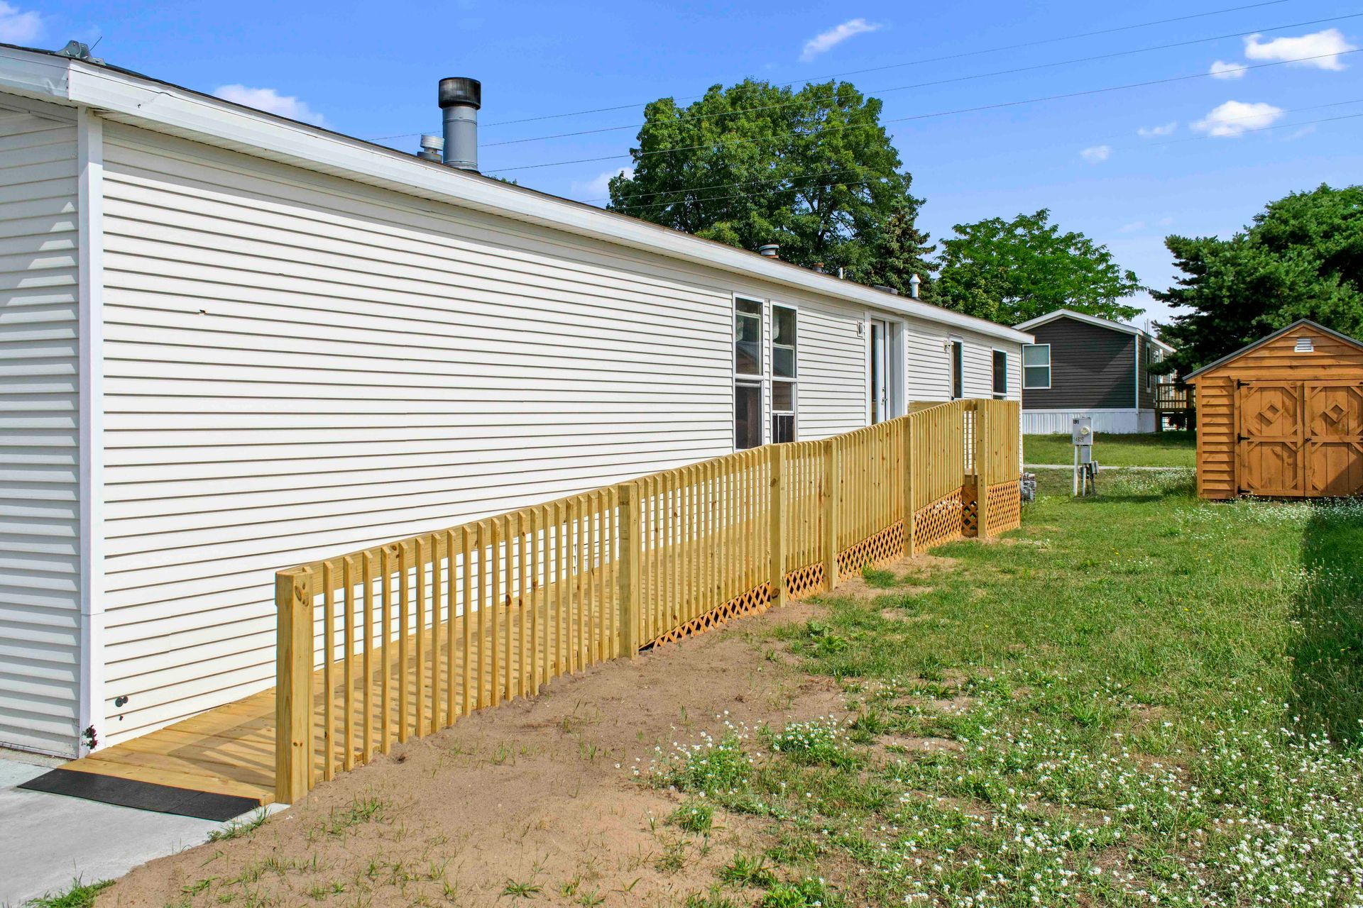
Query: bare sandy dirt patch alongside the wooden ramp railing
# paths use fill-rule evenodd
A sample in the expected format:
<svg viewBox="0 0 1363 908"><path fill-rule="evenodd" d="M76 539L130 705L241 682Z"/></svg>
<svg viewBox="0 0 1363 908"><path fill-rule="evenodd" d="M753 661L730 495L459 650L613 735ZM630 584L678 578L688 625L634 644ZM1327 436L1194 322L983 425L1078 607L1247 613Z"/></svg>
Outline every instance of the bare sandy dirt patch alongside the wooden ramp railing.
<svg viewBox="0 0 1363 908"><path fill-rule="evenodd" d="M736 851L761 851L761 833L718 813L709 836L683 832L667 822L680 795L641 777L726 723L846 719L837 682L762 653L763 630L819 611L793 603L557 679L319 785L248 836L139 867L97 904L680 905Z"/></svg>

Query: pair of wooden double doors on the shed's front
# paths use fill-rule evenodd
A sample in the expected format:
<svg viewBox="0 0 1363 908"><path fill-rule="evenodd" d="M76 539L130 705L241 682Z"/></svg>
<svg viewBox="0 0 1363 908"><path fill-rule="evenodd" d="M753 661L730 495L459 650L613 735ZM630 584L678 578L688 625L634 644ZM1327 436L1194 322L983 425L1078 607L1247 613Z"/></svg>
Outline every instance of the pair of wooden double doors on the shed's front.
<svg viewBox="0 0 1363 908"><path fill-rule="evenodd" d="M1235 412L1242 493L1363 493L1363 383L1240 381Z"/></svg>

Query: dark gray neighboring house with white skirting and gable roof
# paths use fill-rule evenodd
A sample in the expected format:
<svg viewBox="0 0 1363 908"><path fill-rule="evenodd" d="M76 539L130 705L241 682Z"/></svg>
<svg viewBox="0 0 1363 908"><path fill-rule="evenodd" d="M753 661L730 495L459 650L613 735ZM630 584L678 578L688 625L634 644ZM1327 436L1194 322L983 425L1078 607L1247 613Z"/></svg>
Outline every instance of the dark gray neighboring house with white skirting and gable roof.
<svg viewBox="0 0 1363 908"><path fill-rule="evenodd" d="M1075 417L1093 417L1109 434L1154 432L1150 373L1174 347L1141 328L1056 309L1017 325L1036 338L1022 348L1022 433L1069 433Z"/></svg>

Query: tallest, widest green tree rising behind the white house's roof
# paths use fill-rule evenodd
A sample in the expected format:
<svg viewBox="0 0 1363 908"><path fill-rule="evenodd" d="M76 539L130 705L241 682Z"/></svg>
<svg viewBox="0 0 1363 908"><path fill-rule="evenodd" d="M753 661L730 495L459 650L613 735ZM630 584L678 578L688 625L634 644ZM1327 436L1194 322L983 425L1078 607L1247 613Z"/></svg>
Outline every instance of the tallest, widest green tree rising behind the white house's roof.
<svg viewBox="0 0 1363 908"><path fill-rule="evenodd" d="M687 106L645 108L634 167L609 208L800 265L906 289L932 250L880 101L846 82L799 91L748 79Z"/></svg>

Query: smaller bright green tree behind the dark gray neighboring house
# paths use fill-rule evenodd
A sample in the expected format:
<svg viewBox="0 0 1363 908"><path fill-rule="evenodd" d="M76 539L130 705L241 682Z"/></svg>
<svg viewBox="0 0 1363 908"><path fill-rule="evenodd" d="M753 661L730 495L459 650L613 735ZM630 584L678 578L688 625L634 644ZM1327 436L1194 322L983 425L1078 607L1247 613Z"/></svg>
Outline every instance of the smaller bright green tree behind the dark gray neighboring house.
<svg viewBox="0 0 1363 908"><path fill-rule="evenodd" d="M1122 302L1141 289L1107 246L1082 233L1062 233L1045 208L1013 221L955 225L942 241L935 301L972 316L1017 324L1054 309L1103 319L1131 319Z"/></svg>

